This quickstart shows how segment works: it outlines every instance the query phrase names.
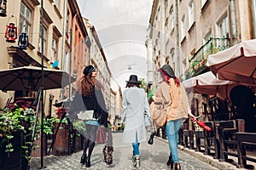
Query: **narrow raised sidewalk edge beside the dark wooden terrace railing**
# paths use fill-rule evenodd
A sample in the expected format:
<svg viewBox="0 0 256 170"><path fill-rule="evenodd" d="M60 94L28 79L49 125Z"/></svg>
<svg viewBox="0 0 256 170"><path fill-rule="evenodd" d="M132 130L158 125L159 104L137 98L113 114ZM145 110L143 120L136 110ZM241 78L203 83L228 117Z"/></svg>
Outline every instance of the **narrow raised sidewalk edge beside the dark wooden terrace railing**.
<svg viewBox="0 0 256 170"><path fill-rule="evenodd" d="M168 143L168 141L166 139L162 139L160 137L155 137L155 138ZM236 165L231 164L226 161L218 161L217 159L213 159L213 156L204 155L202 152L195 151L195 150L189 150L189 148L184 148L183 145L177 145L177 148L179 150L183 150L184 152L188 153L190 156L193 156L193 157L197 158L198 160L204 161L204 162L212 165L212 167L217 167L218 169L221 169L221 170L228 170L228 169L244 170L244 169L246 169L246 168L237 168ZM235 156L229 156L229 159L232 159L234 162L237 162L237 158ZM253 161L247 161L247 165L253 165L254 168L256 167L256 163Z"/></svg>

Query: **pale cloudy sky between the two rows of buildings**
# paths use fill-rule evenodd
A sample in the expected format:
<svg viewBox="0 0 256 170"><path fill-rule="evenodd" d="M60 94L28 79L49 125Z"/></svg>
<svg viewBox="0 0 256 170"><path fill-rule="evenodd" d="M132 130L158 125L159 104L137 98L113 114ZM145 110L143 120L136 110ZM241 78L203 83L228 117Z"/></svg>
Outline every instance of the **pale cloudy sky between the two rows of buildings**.
<svg viewBox="0 0 256 170"><path fill-rule="evenodd" d="M124 90L131 74L147 80L149 18L153 0L77 0L95 26L115 82ZM148 62L151 62L148 61ZM131 70L128 70L131 68Z"/></svg>

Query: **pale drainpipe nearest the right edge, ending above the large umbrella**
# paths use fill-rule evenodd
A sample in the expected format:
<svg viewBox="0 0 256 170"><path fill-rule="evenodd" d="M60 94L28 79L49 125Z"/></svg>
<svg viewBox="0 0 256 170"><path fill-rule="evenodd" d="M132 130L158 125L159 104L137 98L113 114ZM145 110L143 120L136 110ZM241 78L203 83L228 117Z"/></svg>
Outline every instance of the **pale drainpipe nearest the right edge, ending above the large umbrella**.
<svg viewBox="0 0 256 170"><path fill-rule="evenodd" d="M232 45L237 44L237 30L236 30L236 9L235 0L230 0L230 20L232 30Z"/></svg>

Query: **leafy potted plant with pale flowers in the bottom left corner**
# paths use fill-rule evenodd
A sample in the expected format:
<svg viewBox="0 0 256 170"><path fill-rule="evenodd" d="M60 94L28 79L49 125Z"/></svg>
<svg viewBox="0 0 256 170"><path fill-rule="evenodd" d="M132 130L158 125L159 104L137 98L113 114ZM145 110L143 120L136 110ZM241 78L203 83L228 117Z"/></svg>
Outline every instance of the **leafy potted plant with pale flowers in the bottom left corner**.
<svg viewBox="0 0 256 170"><path fill-rule="evenodd" d="M35 121L35 109L32 102L24 100L11 103L0 113L0 147L3 152L0 159L22 161L21 165L15 168L21 166L21 169L26 169L31 160L32 128ZM17 144L21 150L19 150L20 147L16 147ZM12 163L9 162L7 165L1 164L0 167L11 165Z"/></svg>

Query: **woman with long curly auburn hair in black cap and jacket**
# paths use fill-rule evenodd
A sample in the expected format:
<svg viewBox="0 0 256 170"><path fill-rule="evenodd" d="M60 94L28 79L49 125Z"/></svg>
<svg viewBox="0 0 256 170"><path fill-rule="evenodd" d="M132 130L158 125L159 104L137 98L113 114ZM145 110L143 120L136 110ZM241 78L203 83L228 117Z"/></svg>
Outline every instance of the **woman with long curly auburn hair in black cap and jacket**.
<svg viewBox="0 0 256 170"><path fill-rule="evenodd" d="M88 65L84 68L83 73L84 76L79 80L70 114L76 116L74 113L79 111L94 111L94 119L85 122L84 153L80 161L86 167L90 167L90 156L96 144L96 131L99 125L108 127L108 111L102 95L102 85L96 81L96 68Z"/></svg>

